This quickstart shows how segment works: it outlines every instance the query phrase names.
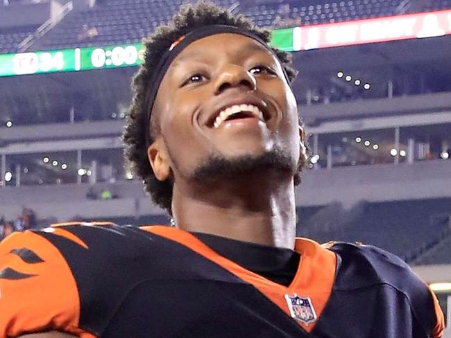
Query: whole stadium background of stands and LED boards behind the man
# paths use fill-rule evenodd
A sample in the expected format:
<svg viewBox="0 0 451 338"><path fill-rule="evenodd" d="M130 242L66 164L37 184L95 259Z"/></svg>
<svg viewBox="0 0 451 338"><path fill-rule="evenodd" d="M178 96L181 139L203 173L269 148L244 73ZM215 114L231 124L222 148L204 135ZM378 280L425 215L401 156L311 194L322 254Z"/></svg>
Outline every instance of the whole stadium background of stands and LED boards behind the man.
<svg viewBox="0 0 451 338"><path fill-rule="evenodd" d="M167 224L119 136L141 39L186 2L2 0L0 238L67 220ZM298 235L398 254L451 337L451 0L215 2L273 30L300 71Z"/></svg>

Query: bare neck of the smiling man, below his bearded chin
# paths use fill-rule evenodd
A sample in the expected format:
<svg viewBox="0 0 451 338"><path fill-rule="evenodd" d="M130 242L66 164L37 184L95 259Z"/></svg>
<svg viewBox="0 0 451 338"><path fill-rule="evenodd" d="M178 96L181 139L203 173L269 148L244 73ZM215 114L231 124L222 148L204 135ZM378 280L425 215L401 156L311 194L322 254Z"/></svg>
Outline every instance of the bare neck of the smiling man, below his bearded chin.
<svg viewBox="0 0 451 338"><path fill-rule="evenodd" d="M186 231L293 249L296 204L291 177L253 175L204 184L176 180L173 217Z"/></svg>

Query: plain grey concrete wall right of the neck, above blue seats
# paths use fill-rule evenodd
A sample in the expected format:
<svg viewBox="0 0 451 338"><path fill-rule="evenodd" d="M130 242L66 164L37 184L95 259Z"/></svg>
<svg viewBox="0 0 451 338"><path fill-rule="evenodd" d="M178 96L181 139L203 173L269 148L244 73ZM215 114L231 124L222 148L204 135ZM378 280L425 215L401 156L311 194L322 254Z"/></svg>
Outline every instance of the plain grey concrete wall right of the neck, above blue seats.
<svg viewBox="0 0 451 338"><path fill-rule="evenodd" d="M350 208L360 200L451 197L451 161L422 161L309 170L297 190L296 204L341 202Z"/></svg>

